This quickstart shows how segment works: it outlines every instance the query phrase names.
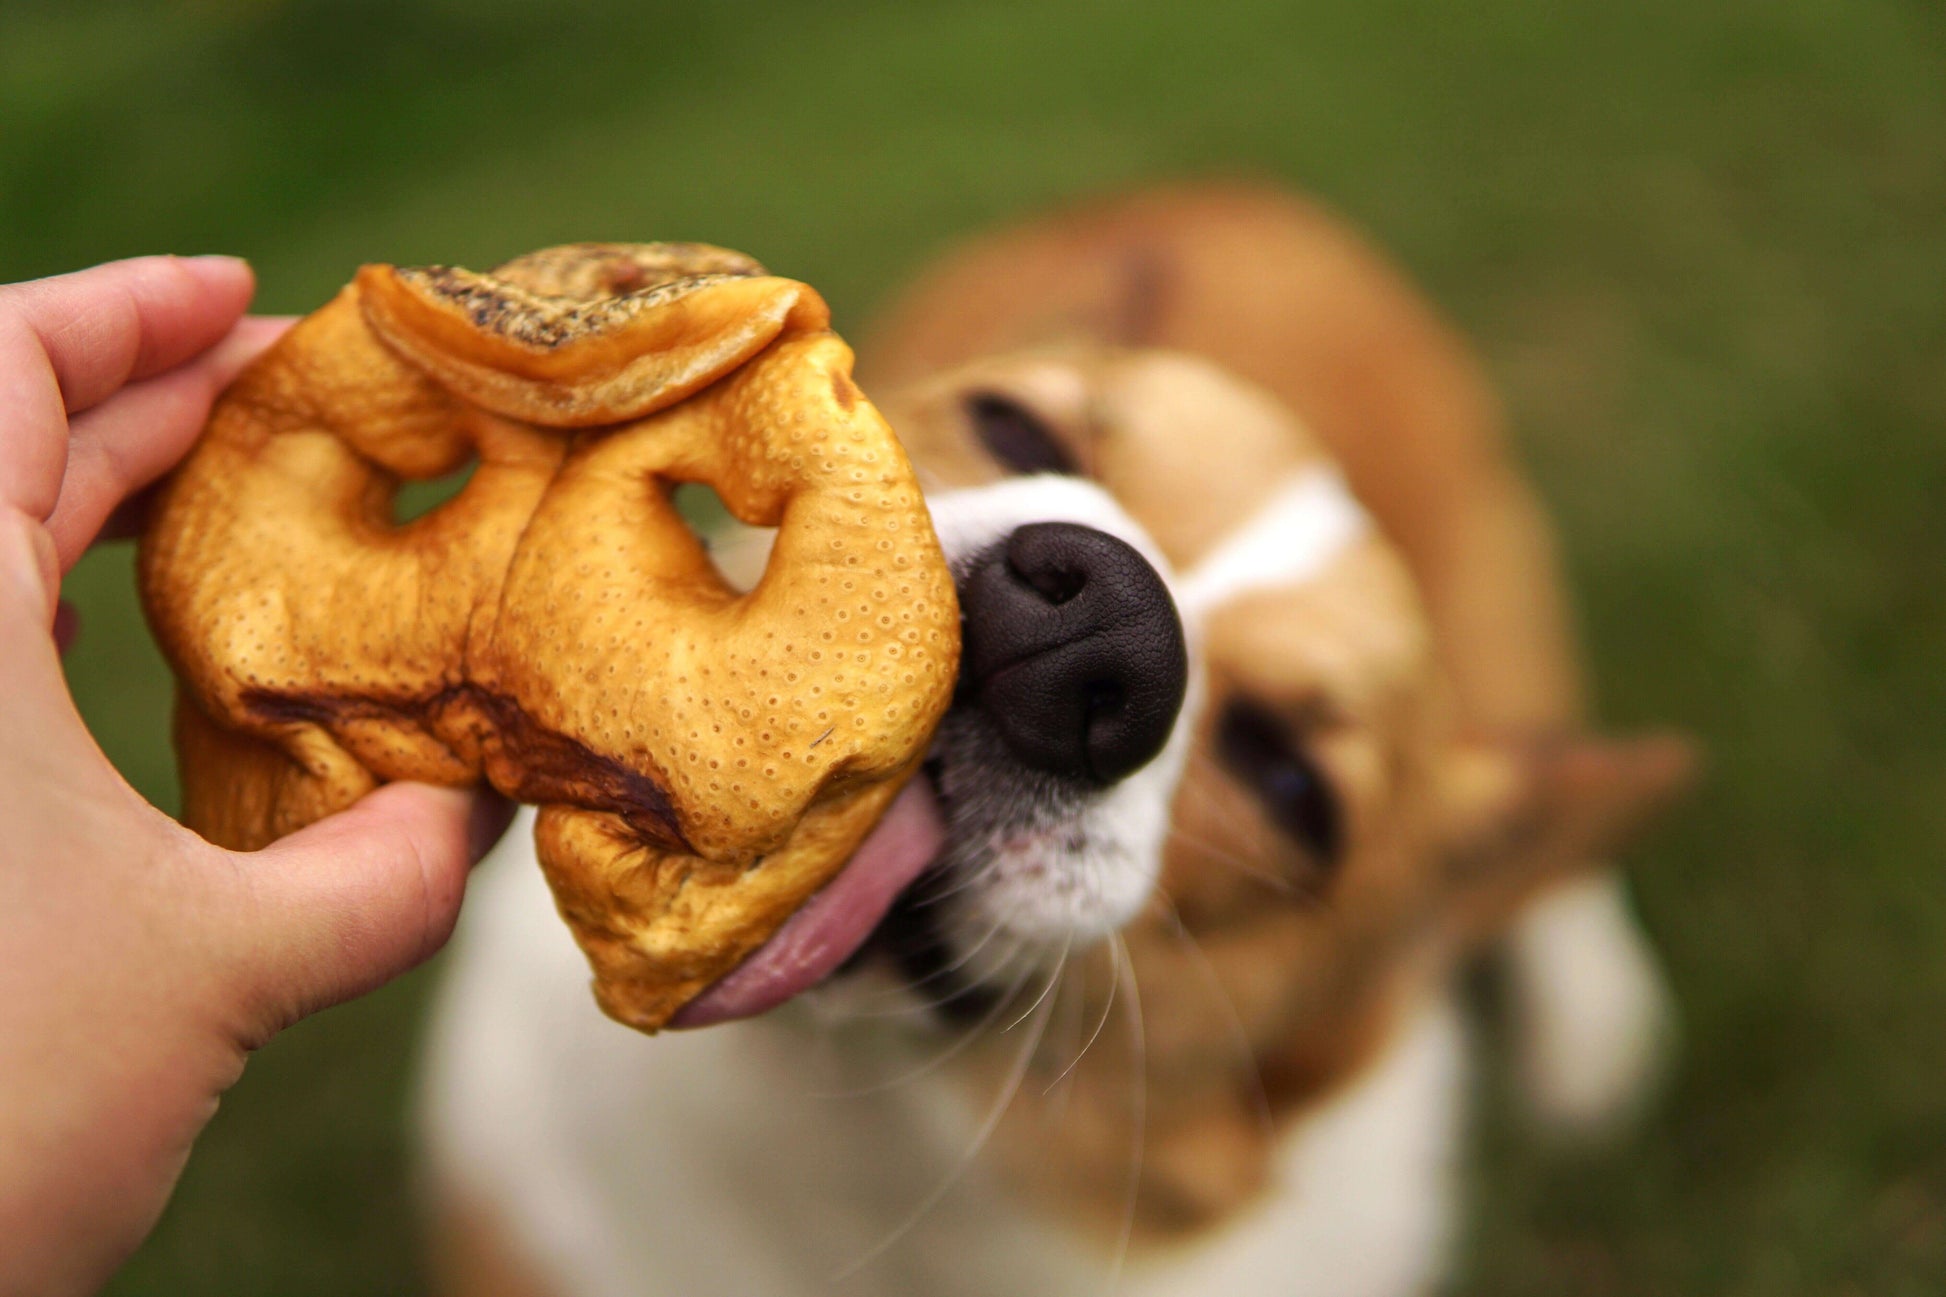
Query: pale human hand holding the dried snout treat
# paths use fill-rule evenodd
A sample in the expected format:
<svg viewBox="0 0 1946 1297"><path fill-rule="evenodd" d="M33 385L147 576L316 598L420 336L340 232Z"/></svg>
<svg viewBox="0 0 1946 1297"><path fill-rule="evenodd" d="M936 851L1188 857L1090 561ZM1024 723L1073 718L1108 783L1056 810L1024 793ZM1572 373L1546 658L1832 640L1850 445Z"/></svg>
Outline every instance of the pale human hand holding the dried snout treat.
<svg viewBox="0 0 1946 1297"><path fill-rule="evenodd" d="M249 267L0 286L0 1293L88 1293L154 1227L251 1050L451 933L490 797L395 783L253 853L150 806L82 724L60 578L126 534L284 321Z"/></svg>

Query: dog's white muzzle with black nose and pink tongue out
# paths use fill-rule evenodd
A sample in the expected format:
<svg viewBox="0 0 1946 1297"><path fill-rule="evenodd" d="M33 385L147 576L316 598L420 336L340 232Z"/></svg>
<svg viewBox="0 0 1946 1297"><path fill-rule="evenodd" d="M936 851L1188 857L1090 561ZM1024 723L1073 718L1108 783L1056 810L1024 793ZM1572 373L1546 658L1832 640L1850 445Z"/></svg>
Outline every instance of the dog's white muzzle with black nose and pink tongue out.
<svg viewBox="0 0 1946 1297"><path fill-rule="evenodd" d="M979 1003L981 982L954 962L955 945L1006 933L1031 958L1029 946L1096 941L1135 915L1160 872L1187 756L1187 652L1166 561L1076 479L1008 479L930 504L965 643L926 769L850 863L671 1026L765 1013L870 956L909 983L950 983L934 1007L954 1019Z"/></svg>

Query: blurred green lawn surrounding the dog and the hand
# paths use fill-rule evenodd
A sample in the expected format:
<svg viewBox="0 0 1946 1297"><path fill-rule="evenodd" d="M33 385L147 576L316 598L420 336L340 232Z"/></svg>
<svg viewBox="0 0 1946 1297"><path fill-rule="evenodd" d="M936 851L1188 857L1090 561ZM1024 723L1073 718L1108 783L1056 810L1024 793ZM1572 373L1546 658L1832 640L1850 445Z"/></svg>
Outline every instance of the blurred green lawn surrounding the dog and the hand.
<svg viewBox="0 0 1946 1297"><path fill-rule="evenodd" d="M1936 0L0 8L0 280L701 238L856 329L954 234L1181 173L1374 230L1479 341L1604 717L1712 756L1637 857L1670 1102L1547 1153L1487 1094L1463 1293L1946 1287L1946 10ZM173 804L126 551L70 670ZM424 978L272 1044L111 1291L416 1291ZM4 1242L0 1242L4 1246Z"/></svg>

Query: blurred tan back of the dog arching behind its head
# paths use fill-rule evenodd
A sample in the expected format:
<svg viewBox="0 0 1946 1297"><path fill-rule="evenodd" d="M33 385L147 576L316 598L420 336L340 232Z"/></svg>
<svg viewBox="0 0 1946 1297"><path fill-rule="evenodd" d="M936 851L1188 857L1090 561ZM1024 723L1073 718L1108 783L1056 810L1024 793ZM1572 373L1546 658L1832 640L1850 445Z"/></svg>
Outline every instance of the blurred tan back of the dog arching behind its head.
<svg viewBox="0 0 1946 1297"><path fill-rule="evenodd" d="M926 275L862 349L860 378L889 391L1074 339L1205 356L1282 401L1405 555L1460 715L1491 730L1580 723L1553 537L1508 460L1500 405L1460 339L1345 224L1251 185L1057 216ZM1193 430L1185 440L1193 450ZM1203 528L1220 528L1226 504L1175 500Z"/></svg>

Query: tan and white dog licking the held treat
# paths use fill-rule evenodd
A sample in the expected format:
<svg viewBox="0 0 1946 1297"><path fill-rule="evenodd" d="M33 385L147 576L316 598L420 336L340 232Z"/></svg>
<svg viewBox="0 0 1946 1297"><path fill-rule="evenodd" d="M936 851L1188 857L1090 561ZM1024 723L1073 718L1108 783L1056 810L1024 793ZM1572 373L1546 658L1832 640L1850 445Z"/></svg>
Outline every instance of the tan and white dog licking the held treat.
<svg viewBox="0 0 1946 1297"><path fill-rule="evenodd" d="M691 1020L790 1003L644 1040L516 828L428 1044L440 1289L1432 1291L1456 978L1502 958L1545 1122L1635 1110L1674 1019L1602 861L1689 765L1580 732L1475 364L1335 218L1205 185L948 257L860 380L965 652L903 845L850 869L924 869Z"/></svg>

